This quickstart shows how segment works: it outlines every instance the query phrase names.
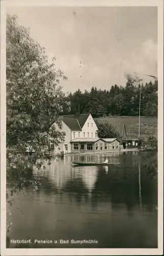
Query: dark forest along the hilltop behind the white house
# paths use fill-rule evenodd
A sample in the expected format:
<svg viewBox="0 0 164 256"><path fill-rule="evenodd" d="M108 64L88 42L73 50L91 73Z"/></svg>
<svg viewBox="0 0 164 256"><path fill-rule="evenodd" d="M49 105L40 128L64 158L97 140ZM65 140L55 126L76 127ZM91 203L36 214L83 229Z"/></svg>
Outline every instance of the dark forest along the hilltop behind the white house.
<svg viewBox="0 0 164 256"><path fill-rule="evenodd" d="M140 89L140 115L157 117L157 80L138 85L128 80L125 87L116 84L110 90L92 87L90 92L85 90L84 93L78 89L75 93L65 96L61 114L75 114L80 111L80 114L90 113L93 117L138 116Z"/></svg>

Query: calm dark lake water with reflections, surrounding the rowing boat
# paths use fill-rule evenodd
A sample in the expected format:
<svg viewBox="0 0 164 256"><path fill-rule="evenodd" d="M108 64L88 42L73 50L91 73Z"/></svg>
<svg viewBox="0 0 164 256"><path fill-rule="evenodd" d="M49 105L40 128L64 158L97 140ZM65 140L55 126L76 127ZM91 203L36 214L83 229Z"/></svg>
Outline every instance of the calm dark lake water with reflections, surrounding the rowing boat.
<svg viewBox="0 0 164 256"><path fill-rule="evenodd" d="M15 196L10 239L98 240L98 244L41 244L58 248L156 248L157 178L143 167L150 153L110 153L120 166L72 166L106 155L74 156L46 165L38 191ZM152 154L152 153L151 153ZM13 244L9 245L14 247ZM23 245L22 247L26 247Z"/></svg>

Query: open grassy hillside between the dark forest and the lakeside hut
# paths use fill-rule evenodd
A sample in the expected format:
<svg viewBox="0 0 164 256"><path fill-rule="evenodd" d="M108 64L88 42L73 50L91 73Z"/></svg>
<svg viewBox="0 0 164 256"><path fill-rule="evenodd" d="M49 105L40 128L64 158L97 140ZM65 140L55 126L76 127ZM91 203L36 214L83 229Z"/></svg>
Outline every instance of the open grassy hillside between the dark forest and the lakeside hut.
<svg viewBox="0 0 164 256"><path fill-rule="evenodd" d="M117 126L119 130L122 129L123 123L125 123L127 136L130 138L138 137L138 117L99 117L95 118L95 120L98 122L108 121ZM154 135L157 137L157 117L140 117L140 136L143 135Z"/></svg>

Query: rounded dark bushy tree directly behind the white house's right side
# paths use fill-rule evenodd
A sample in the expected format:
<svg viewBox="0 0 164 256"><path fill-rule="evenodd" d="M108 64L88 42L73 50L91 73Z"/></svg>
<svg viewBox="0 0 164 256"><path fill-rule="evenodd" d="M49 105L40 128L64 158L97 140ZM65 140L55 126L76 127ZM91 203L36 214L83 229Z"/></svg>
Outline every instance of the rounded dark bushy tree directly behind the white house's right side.
<svg viewBox="0 0 164 256"><path fill-rule="evenodd" d="M108 121L97 122L99 138L118 138L121 136L119 130Z"/></svg>

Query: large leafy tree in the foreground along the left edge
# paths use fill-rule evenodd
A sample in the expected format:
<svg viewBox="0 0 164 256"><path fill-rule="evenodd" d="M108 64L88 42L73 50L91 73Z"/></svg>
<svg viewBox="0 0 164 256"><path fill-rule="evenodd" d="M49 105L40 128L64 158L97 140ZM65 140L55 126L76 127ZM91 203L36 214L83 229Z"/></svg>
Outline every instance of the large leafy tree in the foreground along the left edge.
<svg viewBox="0 0 164 256"><path fill-rule="evenodd" d="M14 181L12 195L28 186L37 189L33 166L40 168L44 160L51 161L51 143L57 146L64 138L57 127L61 127L64 99L59 83L66 77L55 68L55 57L49 63L44 48L17 24L16 16L7 15L6 43L7 185ZM25 154L27 147L35 151L33 157Z"/></svg>

